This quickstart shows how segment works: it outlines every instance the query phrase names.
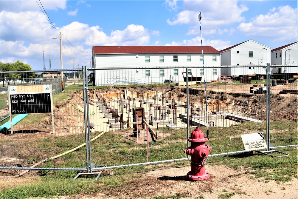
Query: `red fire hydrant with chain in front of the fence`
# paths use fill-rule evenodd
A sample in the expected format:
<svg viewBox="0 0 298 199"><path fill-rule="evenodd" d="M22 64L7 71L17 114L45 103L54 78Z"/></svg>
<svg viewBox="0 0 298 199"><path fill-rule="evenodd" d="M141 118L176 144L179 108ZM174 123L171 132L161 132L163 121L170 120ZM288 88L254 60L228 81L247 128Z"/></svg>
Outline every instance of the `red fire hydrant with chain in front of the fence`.
<svg viewBox="0 0 298 199"><path fill-rule="evenodd" d="M184 153L191 155L190 172L187 177L191 180L204 180L210 177L209 173L205 172L205 158L209 155L211 146L205 144L208 138L205 138L204 132L197 127L187 138L190 141L190 147L184 150Z"/></svg>

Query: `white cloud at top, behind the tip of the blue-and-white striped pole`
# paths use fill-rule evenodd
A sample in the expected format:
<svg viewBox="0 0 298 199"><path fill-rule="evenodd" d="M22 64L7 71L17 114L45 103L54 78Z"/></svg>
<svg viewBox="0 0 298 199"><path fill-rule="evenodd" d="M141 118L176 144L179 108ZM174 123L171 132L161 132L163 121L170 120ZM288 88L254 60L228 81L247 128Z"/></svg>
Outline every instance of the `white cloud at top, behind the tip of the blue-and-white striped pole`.
<svg viewBox="0 0 298 199"><path fill-rule="evenodd" d="M204 27L205 34L221 33L218 30L220 26L245 21L245 17L241 15L249 10L243 4L238 6L237 1L184 1L183 9L173 20L167 19L167 23L169 25L193 24L188 35L200 33L198 21L200 10L202 11L201 26Z"/></svg>

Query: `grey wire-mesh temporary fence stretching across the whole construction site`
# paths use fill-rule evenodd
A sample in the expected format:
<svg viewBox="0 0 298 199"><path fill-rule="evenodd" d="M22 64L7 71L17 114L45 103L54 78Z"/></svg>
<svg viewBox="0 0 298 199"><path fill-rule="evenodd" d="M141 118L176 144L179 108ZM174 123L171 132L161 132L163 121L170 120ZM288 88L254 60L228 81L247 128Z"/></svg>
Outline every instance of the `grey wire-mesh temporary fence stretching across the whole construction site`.
<svg viewBox="0 0 298 199"><path fill-rule="evenodd" d="M297 66L271 69L269 146L294 146L298 144ZM50 112L29 113L14 124L13 135L10 129L2 129L1 167L17 163L21 166L16 167L30 167L64 152L47 167L83 168L90 160L107 167L185 159L187 137L195 127L210 132L208 161L244 151L241 135L259 133L267 141L266 66L89 68L88 87L83 86L82 70L68 70L63 92L61 71L56 72L56 78L42 71L32 71L30 78L1 73L4 89L51 85L53 111L53 121ZM5 91L0 95L2 118L9 116L4 110L9 99ZM24 99L18 96L17 100ZM13 103L8 101L10 107ZM89 115L86 122L84 113ZM8 121L3 119L1 125ZM86 146L69 152L88 142L86 127L92 141L88 158Z"/></svg>

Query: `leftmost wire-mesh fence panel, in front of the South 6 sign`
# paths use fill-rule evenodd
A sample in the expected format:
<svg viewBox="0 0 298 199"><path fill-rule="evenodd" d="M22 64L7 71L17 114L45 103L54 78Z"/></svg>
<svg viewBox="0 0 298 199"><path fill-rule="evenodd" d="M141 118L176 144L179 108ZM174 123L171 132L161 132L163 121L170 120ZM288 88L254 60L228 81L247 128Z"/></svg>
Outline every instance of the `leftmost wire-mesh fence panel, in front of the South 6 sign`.
<svg viewBox="0 0 298 199"><path fill-rule="evenodd" d="M73 72L64 73L67 78L64 79L66 89L63 92L60 71L26 72L30 78L10 77L23 76L24 73L3 74L7 78L1 79L5 86L0 95L3 118L0 134L1 167L31 167L45 159L52 161L38 167L84 166L84 147L75 153L55 157L85 143L82 82L78 81L79 78L69 77L68 74L72 75ZM7 107L12 110L13 132L10 118L6 118L9 116Z"/></svg>

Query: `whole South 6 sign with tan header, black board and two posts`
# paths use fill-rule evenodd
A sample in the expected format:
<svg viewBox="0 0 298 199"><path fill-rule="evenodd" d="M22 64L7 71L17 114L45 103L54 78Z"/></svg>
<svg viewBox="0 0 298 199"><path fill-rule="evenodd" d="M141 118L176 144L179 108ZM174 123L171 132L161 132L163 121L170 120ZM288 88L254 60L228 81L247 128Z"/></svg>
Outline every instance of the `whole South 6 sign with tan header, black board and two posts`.
<svg viewBox="0 0 298 199"><path fill-rule="evenodd" d="M54 133L54 115L52 85L10 86L8 89L11 135L13 135L13 114L47 113L52 115Z"/></svg>

